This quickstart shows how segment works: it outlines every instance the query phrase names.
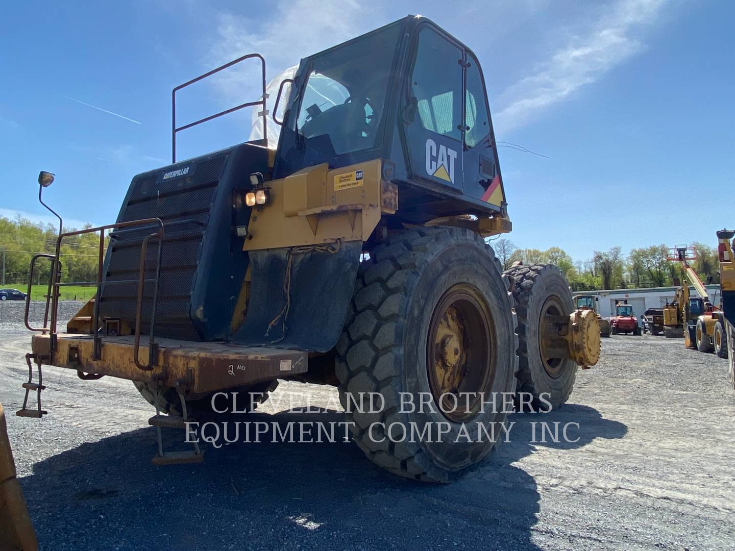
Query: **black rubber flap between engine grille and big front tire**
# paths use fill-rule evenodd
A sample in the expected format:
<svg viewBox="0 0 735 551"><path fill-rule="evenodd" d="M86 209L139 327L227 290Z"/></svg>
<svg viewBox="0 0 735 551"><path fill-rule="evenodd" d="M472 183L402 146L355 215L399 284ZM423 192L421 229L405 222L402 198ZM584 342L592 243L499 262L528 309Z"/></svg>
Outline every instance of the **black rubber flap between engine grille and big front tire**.
<svg viewBox="0 0 735 551"><path fill-rule="evenodd" d="M252 251L245 320L232 342L326 352L342 332L362 241Z"/></svg>

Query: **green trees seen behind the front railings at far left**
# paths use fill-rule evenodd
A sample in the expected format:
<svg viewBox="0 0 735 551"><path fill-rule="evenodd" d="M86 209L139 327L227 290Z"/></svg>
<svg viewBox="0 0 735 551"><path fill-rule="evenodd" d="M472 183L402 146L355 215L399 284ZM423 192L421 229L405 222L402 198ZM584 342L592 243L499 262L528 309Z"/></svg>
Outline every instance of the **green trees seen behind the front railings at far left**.
<svg viewBox="0 0 735 551"><path fill-rule="evenodd" d="M90 224L85 225L91 228ZM64 228L73 231L75 228ZM22 217L10 220L0 217L0 277L4 287L28 284L29 262L35 253L51 253L56 249L58 226L33 223ZM107 238L106 238L107 239ZM62 281L96 281L99 258L99 234L65 237L61 246ZM36 261L34 284L49 281L51 262ZM23 290L23 289L21 289Z"/></svg>

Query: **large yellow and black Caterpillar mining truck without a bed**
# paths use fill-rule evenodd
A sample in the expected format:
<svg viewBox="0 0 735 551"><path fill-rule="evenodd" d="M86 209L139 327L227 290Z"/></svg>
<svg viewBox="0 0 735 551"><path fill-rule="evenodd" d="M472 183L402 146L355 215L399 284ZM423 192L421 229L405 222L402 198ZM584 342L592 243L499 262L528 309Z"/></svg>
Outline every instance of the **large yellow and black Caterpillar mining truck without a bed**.
<svg viewBox="0 0 735 551"><path fill-rule="evenodd" d="M262 96L226 112L259 109L263 139L177 160L177 132L226 112L176 126L176 93L245 60L260 65ZM157 408L154 462L193 462L198 447L165 452L160 429L213 414L215 392L263 400L279 379L330 384L372 461L445 481L495 447L453 439L465 423L505 419L487 396L564 403L577 367L598 359L598 320L574 308L557 267L503 272L484 240L512 226L475 54L408 16L301 60L279 87L280 113L267 100L259 54L173 90L172 164L132 179L115 223L60 233L47 255L49 322L30 327L18 414L46 413L42 366L126 378ZM52 179L42 173L40 189ZM60 245L93 231L96 297L64 333ZM433 407L406 411L401 393ZM351 407L365 396L379 413ZM370 431L396 421L451 432L409 443Z"/></svg>

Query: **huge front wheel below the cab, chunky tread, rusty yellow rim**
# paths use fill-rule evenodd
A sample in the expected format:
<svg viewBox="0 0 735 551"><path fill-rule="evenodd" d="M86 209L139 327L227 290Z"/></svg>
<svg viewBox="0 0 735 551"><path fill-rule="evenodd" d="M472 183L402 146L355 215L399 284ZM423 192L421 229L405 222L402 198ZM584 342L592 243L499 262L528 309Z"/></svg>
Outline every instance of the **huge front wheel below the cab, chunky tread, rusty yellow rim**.
<svg viewBox="0 0 735 551"><path fill-rule="evenodd" d="M451 392L482 392L487 400L504 392L512 402L518 341L509 286L492 248L461 228L401 231L370 251L358 270L336 361L353 439L370 460L406 478L448 482L495 449L506 408L473 403L469 411L451 411L442 401L444 414L440 400L447 396L439 390L458 377ZM440 339L440 328L451 320L459 329ZM458 344L448 346L451 342ZM355 407L368 392L379 394L384 407L377 395ZM430 407L412 411L401 405L401 396L411 397L414 405L423 396ZM365 411L368 403L379 411ZM494 441L476 438L477 424L487 428L493 422ZM391 425L392 439L386 437ZM440 426L449 432L436 442ZM412 427L418 432L429 427L434 442L411 438ZM456 442L463 427L473 442L464 436ZM408 437L395 442L404 430Z"/></svg>

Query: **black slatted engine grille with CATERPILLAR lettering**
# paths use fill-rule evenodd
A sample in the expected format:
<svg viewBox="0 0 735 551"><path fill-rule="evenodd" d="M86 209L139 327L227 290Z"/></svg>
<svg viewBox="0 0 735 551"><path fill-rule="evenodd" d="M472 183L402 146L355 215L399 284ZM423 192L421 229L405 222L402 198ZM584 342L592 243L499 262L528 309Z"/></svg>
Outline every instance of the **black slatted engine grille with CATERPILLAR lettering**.
<svg viewBox="0 0 735 551"><path fill-rule="evenodd" d="M229 207L229 196L216 197L228 154L183 162L154 173L135 176L118 215L118 222L159 217L164 223L156 313L156 334L159 336L201 338L191 321L190 299L210 212L215 209L215 203L224 201L223 208ZM185 175L163 178L165 174L186 166L189 170ZM134 228L112 234L105 259L104 281L137 278L140 245L143 237L154 229ZM155 275L156 256L157 241L151 240L146 256L146 278ZM144 287L143 332L148 331L153 287L153 284ZM133 325L136 298L137 283L103 286L100 301L102 317L120 318Z"/></svg>

